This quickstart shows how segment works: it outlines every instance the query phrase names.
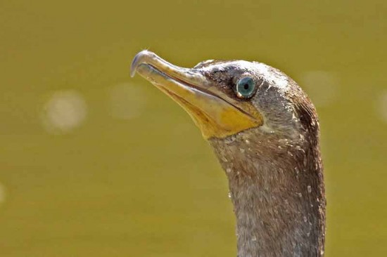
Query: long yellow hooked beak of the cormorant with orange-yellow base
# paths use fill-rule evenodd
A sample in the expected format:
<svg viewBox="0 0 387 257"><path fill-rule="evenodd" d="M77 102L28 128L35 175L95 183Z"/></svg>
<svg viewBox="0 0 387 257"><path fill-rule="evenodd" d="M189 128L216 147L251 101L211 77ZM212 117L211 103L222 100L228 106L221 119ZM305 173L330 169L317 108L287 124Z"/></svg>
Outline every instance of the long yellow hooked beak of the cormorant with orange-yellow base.
<svg viewBox="0 0 387 257"><path fill-rule="evenodd" d="M250 103L222 93L201 70L177 67L151 51L141 51L134 57L131 76L136 72L182 106L206 139L262 125L262 116Z"/></svg>

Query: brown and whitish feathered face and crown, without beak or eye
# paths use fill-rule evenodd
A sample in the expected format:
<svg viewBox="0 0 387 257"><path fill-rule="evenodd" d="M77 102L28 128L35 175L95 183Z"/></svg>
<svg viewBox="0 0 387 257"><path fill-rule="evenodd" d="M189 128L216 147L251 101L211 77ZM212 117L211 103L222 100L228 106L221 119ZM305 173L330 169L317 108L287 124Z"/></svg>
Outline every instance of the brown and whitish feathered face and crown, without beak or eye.
<svg viewBox="0 0 387 257"><path fill-rule="evenodd" d="M219 91L239 102L250 103L262 116L262 131L294 136L293 134L302 129L296 112L297 103L291 100L296 98L295 93L303 96L304 94L292 79L279 70L260 62L243 60L201 62L196 68L201 70ZM235 92L237 81L243 77L253 78L256 85L254 95L246 99L239 98Z"/></svg>

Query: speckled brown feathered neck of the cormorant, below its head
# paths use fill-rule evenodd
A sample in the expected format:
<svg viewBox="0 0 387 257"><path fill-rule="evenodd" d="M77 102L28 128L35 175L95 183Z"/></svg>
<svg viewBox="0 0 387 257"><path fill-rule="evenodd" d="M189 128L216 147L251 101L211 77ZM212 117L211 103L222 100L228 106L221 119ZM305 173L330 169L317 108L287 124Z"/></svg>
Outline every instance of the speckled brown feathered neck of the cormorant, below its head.
<svg viewBox="0 0 387 257"><path fill-rule="evenodd" d="M210 144L229 179L239 257L324 255L318 138L246 131Z"/></svg>

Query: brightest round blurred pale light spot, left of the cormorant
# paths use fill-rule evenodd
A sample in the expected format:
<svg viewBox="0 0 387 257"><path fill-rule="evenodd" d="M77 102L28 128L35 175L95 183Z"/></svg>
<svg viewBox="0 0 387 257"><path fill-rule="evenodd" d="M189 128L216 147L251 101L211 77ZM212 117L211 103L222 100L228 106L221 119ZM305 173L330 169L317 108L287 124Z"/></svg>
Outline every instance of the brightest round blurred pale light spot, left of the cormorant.
<svg viewBox="0 0 387 257"><path fill-rule="evenodd" d="M68 133L82 124L87 116L87 104L80 93L57 91L51 95L41 113L46 131Z"/></svg>

